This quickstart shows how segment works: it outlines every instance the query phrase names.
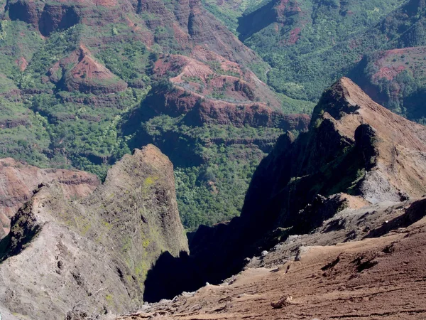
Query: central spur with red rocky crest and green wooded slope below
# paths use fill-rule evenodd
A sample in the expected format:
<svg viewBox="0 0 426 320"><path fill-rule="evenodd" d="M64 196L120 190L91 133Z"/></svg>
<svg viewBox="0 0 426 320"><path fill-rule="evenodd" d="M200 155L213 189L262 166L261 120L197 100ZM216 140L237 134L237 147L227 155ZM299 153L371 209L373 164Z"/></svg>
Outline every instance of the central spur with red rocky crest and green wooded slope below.
<svg viewBox="0 0 426 320"><path fill-rule="evenodd" d="M129 146L155 144L173 161L185 227L239 215L258 162L310 118L285 114L250 70L202 48L192 58L159 55L152 67L159 80L121 124Z"/></svg>

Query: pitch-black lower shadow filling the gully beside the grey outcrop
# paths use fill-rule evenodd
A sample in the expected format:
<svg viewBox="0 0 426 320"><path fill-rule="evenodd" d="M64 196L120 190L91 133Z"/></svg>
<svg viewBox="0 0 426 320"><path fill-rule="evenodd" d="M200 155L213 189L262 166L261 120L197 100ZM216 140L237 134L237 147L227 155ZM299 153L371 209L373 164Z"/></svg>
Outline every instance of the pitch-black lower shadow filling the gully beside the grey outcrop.
<svg viewBox="0 0 426 320"><path fill-rule="evenodd" d="M206 282L219 284L237 274L246 264L245 258L261 250L258 240L270 227L270 221L252 223L241 218L213 227L201 225L190 237L190 256L185 252L173 257L165 252L148 271L143 300L173 299Z"/></svg>

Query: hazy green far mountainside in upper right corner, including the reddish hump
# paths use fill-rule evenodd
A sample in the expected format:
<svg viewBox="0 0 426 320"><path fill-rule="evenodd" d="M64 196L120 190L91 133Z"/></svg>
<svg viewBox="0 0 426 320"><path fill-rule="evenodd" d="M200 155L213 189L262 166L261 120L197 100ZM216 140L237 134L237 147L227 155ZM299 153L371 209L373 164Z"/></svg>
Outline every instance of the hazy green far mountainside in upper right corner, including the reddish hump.
<svg viewBox="0 0 426 320"><path fill-rule="evenodd" d="M237 31L271 65L268 84L278 92L317 100L324 87L347 75L385 107L422 121L425 66L410 48L425 46L425 16L422 0L274 0L247 9ZM416 57L415 69L405 65L400 72L403 66L392 58L386 68L400 68L398 76L374 75L384 51L400 48L408 48L405 64Z"/></svg>

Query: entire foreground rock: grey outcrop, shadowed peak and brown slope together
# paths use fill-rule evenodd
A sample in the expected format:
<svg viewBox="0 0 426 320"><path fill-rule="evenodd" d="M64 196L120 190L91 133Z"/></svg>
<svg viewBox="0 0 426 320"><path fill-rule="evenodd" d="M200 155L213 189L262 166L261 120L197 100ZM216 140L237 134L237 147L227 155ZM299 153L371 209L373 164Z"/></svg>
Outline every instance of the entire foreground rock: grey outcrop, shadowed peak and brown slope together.
<svg viewBox="0 0 426 320"><path fill-rule="evenodd" d="M0 312L418 319L425 152L425 127L342 78L324 92L309 130L284 134L261 161L241 217L201 226L189 243L173 166L153 145L124 156L82 198L67 199L55 179L41 183L1 240Z"/></svg>

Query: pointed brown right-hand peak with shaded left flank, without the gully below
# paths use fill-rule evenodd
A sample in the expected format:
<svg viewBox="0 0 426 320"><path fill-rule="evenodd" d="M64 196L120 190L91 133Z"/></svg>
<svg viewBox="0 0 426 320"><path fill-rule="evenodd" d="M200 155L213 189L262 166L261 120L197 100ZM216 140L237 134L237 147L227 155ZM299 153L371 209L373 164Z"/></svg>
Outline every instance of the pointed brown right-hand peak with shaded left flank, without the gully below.
<svg viewBox="0 0 426 320"><path fill-rule="evenodd" d="M322 96L310 132L295 142L282 137L259 166L241 218L266 218L266 205L271 222L295 228L297 213L317 194L350 193L369 203L418 198L426 191L425 152L424 126L386 110L343 78ZM306 227L312 226L299 231Z"/></svg>

